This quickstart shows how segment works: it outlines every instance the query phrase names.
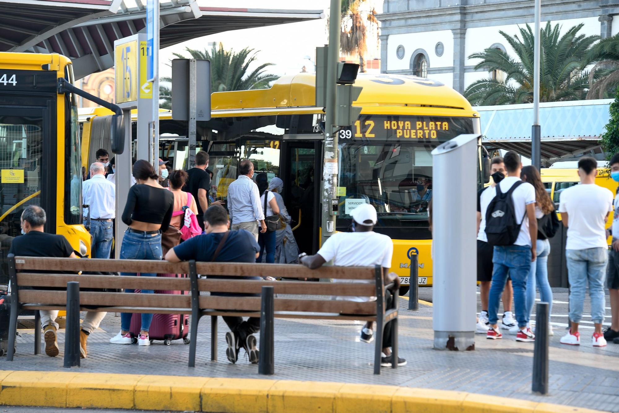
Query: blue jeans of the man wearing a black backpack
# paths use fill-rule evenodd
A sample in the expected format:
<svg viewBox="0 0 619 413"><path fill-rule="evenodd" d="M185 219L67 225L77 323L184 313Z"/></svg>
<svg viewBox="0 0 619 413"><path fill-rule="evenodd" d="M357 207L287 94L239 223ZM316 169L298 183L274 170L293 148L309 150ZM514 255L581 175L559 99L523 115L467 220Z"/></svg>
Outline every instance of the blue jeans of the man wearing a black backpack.
<svg viewBox="0 0 619 413"><path fill-rule="evenodd" d="M490 297L488 297L488 321L490 324L496 324L498 321L499 302L509 274L514 288L516 321L522 328L529 322L524 292L531 271L531 248L527 245L495 246L492 263L494 266Z"/></svg>

